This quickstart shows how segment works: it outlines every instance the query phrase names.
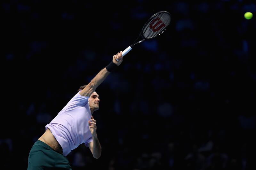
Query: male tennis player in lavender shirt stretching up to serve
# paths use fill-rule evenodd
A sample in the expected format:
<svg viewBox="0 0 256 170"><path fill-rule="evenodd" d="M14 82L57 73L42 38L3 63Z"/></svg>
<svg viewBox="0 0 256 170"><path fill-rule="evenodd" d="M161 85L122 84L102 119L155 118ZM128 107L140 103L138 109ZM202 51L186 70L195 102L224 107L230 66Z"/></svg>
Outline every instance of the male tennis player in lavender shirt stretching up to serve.
<svg viewBox="0 0 256 170"><path fill-rule="evenodd" d="M122 51L120 51L88 85L81 86L77 94L45 126L44 134L39 137L29 152L29 170L71 169L66 156L83 143L89 147L94 158L100 158L101 146L96 132L97 125L92 117L100 104L99 95L95 90L122 62Z"/></svg>

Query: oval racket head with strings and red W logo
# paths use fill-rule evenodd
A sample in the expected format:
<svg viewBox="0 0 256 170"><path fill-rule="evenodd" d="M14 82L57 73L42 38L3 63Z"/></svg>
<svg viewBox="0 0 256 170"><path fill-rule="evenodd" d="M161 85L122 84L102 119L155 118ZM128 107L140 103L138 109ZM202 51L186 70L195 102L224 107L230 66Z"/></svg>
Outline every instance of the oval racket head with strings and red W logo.
<svg viewBox="0 0 256 170"><path fill-rule="evenodd" d="M142 28L142 36L152 39L161 35L171 23L171 14L167 11L156 12L151 16Z"/></svg>

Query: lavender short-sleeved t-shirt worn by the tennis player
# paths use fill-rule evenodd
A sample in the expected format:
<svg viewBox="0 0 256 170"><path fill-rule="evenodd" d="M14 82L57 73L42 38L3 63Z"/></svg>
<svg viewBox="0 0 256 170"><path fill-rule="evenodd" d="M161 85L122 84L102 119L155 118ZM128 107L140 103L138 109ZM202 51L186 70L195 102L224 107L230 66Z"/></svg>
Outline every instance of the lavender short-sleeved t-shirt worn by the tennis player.
<svg viewBox="0 0 256 170"><path fill-rule="evenodd" d="M79 91L81 92L81 90ZM89 130L88 121L91 118L89 97L81 96L79 92L68 102L59 114L45 126L60 143L63 155L84 143L92 142L92 134Z"/></svg>

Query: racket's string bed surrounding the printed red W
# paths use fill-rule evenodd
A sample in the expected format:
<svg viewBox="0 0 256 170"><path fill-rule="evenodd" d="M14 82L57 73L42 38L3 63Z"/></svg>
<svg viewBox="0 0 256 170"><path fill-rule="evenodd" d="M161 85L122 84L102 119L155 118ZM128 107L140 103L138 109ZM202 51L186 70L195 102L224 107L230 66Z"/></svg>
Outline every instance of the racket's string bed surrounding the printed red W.
<svg viewBox="0 0 256 170"><path fill-rule="evenodd" d="M156 19L157 17L161 19L161 21L164 23L165 26L162 27L162 28L160 28L160 29L157 30L156 32L154 32L154 31L152 30L152 28L150 28L150 24L151 24L151 22L152 22L154 19ZM162 34L162 33L164 32L164 29L170 24L170 22L171 22L171 17L170 17L170 15L169 15L168 13L166 13L166 12L162 12L162 13L160 13L160 14L157 14L157 15L155 15L155 16L152 16L151 19L148 20L148 23L146 24L145 29L143 30L143 36L144 36L145 38L149 39L149 38L153 38L153 37L155 37L155 36L157 36L157 35ZM154 23L154 24L156 24L156 23ZM158 27L159 27L159 26L157 26L156 29L157 29Z"/></svg>

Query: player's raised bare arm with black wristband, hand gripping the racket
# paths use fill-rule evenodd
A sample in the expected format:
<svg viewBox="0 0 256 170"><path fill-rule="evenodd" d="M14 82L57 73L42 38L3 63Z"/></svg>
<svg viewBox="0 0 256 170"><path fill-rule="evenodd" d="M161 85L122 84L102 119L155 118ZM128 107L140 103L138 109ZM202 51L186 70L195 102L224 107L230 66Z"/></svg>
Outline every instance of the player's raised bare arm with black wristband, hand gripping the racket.
<svg viewBox="0 0 256 170"><path fill-rule="evenodd" d="M118 59L119 61L116 61ZM92 81L79 93L81 96L91 96L96 88L108 77L109 73L123 62L122 51L113 56L112 61L107 67L100 70L100 72L92 79Z"/></svg>

